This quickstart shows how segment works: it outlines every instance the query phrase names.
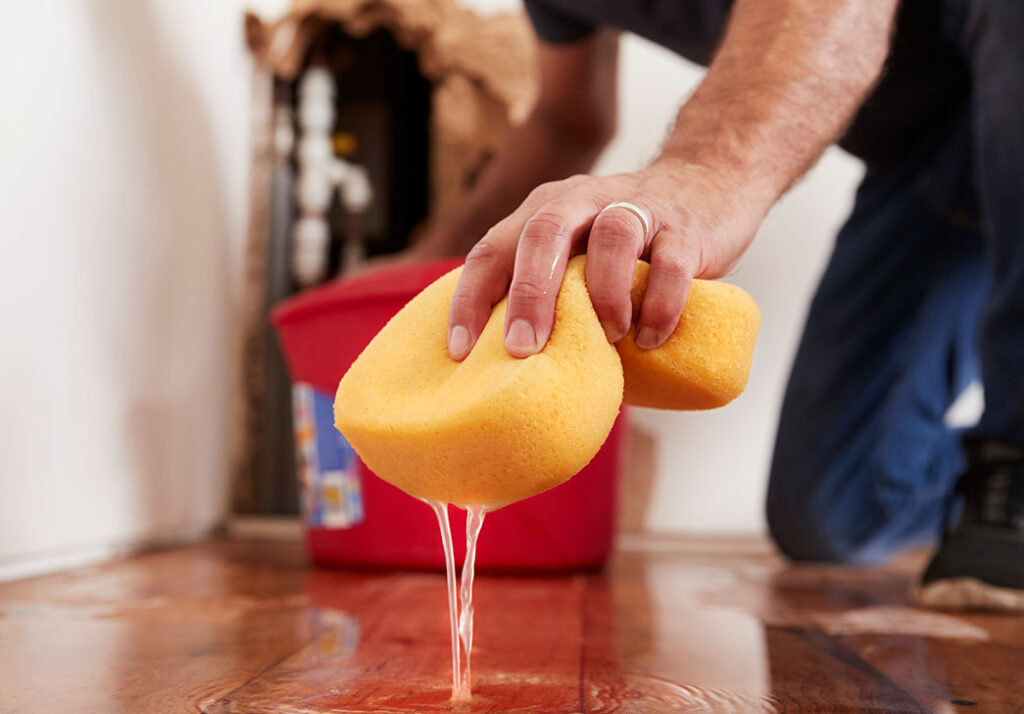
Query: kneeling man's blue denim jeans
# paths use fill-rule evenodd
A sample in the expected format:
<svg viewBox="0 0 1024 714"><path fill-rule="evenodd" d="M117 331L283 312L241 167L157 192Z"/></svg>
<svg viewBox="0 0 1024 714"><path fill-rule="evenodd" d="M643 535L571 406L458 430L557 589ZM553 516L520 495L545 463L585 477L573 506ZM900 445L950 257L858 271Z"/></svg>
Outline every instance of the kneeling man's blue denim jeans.
<svg viewBox="0 0 1024 714"><path fill-rule="evenodd" d="M932 541L962 439L1024 446L1024 1L943 4L970 87L933 146L868 171L790 378L767 514L796 559ZM973 380L964 434L943 417Z"/></svg>

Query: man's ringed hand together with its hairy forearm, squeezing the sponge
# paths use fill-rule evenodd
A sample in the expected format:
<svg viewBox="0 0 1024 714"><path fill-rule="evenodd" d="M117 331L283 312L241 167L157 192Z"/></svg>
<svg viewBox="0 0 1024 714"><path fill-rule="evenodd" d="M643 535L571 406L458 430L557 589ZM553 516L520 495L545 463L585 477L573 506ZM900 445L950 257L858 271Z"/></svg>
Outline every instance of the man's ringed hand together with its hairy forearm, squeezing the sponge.
<svg viewBox="0 0 1024 714"><path fill-rule="evenodd" d="M472 249L452 299L451 355L469 353L506 291L506 348L518 358L543 349L565 263L583 251L611 341L631 324L635 261L650 260L636 343L662 344L691 279L724 275L772 204L838 138L882 71L895 8L896 0L737 0L657 161L545 183ZM602 212L617 201L647 212L648 235L629 209Z"/></svg>

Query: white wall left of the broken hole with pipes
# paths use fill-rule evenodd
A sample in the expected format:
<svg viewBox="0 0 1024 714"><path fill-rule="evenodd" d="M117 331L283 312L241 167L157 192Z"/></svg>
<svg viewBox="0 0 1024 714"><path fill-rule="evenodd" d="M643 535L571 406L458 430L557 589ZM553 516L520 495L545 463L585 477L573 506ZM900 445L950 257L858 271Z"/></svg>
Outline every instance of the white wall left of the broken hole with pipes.
<svg viewBox="0 0 1024 714"><path fill-rule="evenodd" d="M242 0L0 23L0 578L226 507L250 88Z"/></svg>

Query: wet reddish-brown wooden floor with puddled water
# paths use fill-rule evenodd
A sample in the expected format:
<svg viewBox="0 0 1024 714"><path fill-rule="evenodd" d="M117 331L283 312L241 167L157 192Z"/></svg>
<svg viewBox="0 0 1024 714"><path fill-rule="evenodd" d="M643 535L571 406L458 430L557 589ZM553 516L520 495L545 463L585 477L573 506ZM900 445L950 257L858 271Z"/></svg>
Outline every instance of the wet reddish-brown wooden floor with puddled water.
<svg viewBox="0 0 1024 714"><path fill-rule="evenodd" d="M605 575L480 576L456 711L1024 712L1024 619L914 610L920 558L793 568L627 544ZM447 711L443 578L216 542L0 585L0 712Z"/></svg>

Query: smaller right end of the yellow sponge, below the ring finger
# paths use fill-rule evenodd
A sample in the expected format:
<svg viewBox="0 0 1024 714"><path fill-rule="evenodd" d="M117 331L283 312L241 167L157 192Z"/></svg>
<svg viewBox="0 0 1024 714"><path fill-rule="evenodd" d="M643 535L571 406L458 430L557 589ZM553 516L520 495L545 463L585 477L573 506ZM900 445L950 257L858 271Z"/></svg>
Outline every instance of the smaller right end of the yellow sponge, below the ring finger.
<svg viewBox="0 0 1024 714"><path fill-rule="evenodd" d="M647 286L650 266L637 262L633 311ZM624 402L656 409L714 409L746 386L761 312L742 288L728 283L690 283L679 326L657 349L640 349L633 330L615 343L626 374Z"/></svg>

